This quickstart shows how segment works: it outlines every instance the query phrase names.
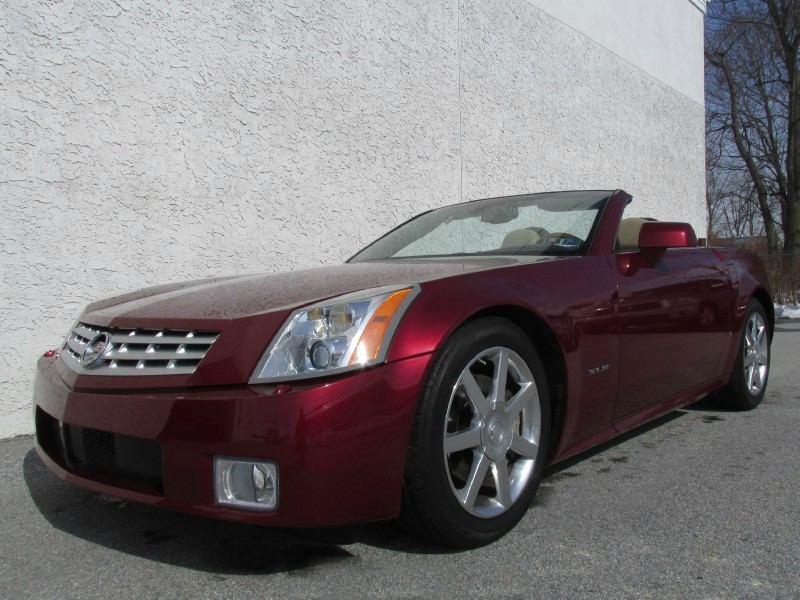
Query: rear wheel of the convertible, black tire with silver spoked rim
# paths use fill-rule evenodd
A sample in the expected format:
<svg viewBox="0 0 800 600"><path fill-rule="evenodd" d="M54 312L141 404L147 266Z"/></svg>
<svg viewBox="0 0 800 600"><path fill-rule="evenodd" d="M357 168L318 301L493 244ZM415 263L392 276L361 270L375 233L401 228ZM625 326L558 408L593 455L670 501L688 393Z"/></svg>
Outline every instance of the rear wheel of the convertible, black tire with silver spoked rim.
<svg viewBox="0 0 800 600"><path fill-rule="evenodd" d="M724 396L729 408L752 410L764 399L772 341L768 323L764 307L751 298L744 318L739 351Z"/></svg>

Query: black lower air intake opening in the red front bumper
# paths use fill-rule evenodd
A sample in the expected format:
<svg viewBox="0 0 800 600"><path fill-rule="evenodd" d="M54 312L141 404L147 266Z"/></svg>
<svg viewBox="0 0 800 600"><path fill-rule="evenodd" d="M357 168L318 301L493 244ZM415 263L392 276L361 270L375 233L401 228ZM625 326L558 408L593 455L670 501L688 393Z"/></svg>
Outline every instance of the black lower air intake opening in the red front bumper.
<svg viewBox="0 0 800 600"><path fill-rule="evenodd" d="M109 431L60 423L36 409L36 439L50 458L81 477L161 495L161 444Z"/></svg>

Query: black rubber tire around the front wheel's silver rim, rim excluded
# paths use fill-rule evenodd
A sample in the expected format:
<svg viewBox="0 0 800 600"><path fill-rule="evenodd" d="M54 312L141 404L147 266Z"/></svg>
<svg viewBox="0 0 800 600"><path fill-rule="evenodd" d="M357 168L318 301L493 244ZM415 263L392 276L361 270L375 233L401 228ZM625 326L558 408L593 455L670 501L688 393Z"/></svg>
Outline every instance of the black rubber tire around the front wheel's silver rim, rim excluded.
<svg viewBox="0 0 800 600"><path fill-rule="evenodd" d="M541 408L539 456L525 490L506 512L488 519L466 512L450 487L443 448L443 432L451 391L463 369L478 353L495 346L510 348L520 355L533 374ZM420 425L422 448L416 460L424 460L418 470L427 494L427 515L436 537L459 546L489 543L508 532L524 516L533 500L544 471L550 438L550 394L544 366L534 345L511 322L501 318L475 321L457 331L434 358L429 379L421 398L423 414ZM425 518L427 516L427 518Z"/></svg>

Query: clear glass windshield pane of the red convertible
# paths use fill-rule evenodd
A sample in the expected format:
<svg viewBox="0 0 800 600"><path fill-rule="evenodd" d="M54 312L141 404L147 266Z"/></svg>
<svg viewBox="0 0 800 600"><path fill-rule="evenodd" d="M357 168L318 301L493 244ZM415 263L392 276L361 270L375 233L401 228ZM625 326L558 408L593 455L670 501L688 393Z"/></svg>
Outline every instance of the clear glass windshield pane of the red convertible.
<svg viewBox="0 0 800 600"><path fill-rule="evenodd" d="M479 255L582 255L612 192L492 198L414 217L348 262Z"/></svg>

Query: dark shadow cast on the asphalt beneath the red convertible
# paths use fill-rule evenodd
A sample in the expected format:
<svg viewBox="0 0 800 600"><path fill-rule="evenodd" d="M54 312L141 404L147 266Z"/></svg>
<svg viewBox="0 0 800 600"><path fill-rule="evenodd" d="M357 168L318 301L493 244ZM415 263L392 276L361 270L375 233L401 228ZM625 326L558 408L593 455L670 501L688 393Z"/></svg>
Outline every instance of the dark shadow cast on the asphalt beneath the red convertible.
<svg viewBox="0 0 800 600"><path fill-rule="evenodd" d="M554 483L570 467L686 414L674 411L553 465L545 471L544 482ZM463 551L422 539L394 521L282 530L128 502L61 481L34 449L25 455L22 469L31 499L53 527L119 552L219 576L291 574L346 563L357 557L343 546L354 543L411 554ZM556 491L557 487L543 486L533 506L543 504L544 496Z"/></svg>

